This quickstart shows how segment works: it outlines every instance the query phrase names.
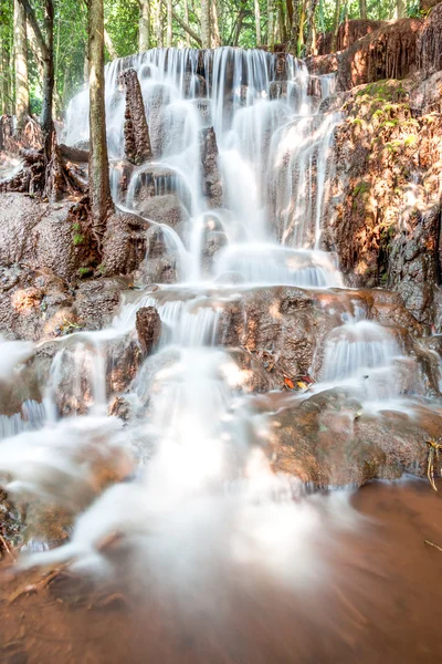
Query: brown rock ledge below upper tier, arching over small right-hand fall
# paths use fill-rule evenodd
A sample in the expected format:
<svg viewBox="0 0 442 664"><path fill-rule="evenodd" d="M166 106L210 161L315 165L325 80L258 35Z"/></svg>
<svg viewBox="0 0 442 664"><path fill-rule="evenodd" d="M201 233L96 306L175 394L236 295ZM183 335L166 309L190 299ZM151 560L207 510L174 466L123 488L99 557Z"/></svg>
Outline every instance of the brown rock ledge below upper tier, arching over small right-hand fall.
<svg viewBox="0 0 442 664"><path fill-rule="evenodd" d="M211 304L220 307L217 298ZM319 377L327 335L358 311L368 320L392 326L392 334L407 350L412 350L414 338L422 334L422 325L398 293L352 290L349 298L338 289L322 293L271 287L232 293L222 302L217 343L245 349L270 367L272 378L284 388L285 376L295 380L313 372L315 380Z"/></svg>

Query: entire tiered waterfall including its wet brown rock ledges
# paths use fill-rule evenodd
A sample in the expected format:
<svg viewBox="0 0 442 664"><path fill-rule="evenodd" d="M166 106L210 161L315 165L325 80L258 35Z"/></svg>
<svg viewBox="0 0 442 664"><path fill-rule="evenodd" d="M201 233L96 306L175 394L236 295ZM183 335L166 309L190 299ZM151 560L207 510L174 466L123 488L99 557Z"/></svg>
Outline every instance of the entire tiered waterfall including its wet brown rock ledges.
<svg viewBox="0 0 442 664"><path fill-rule="evenodd" d="M128 70L151 146L139 162ZM86 300L117 283L105 325L91 300L88 328L0 341L1 486L18 520L28 506L19 564L113 578L124 550L159 601L194 594L201 613L225 569L319 588L336 532L362 528L351 489L424 476L442 423L436 336L396 293L352 288L326 232L335 76L227 46L105 73L112 194L144 220L146 251L130 279L81 286ZM88 142L86 89L59 139Z"/></svg>

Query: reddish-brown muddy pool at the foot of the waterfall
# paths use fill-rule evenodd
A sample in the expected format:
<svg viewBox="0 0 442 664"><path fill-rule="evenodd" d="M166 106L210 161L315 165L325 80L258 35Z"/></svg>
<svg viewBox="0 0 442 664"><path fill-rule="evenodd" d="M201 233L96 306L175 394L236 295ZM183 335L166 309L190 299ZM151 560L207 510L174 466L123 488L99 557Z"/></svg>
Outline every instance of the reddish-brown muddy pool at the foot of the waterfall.
<svg viewBox="0 0 442 664"><path fill-rule="evenodd" d="M442 548L442 495L423 480L373 483L351 504L357 526L320 540L326 566L296 587L213 559L178 595L167 579L141 580L124 547L103 583L3 567L0 662L442 661L442 551L425 543Z"/></svg>

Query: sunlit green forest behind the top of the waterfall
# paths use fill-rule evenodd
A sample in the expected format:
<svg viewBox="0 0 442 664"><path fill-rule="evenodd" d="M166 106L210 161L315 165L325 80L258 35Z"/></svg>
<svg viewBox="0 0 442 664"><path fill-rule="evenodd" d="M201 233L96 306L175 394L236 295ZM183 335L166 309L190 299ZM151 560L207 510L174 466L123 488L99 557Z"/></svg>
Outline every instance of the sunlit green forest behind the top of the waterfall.
<svg viewBox="0 0 442 664"><path fill-rule="evenodd" d="M44 54L35 23L44 35L51 6L54 111L60 117L87 79L87 0L24 4L34 22L19 0L0 0L0 111L20 116L24 105L32 115L42 112ZM425 15L427 10L417 0L105 0L104 12L105 56L110 61L161 46L257 46L305 56L317 53L326 33L336 50L338 28L348 19L385 21Z"/></svg>

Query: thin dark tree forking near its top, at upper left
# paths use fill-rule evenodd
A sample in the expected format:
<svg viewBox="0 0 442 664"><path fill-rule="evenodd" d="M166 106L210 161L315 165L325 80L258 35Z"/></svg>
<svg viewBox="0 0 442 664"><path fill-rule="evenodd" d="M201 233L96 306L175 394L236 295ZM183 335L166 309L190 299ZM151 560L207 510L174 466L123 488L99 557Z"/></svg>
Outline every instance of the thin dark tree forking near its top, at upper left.
<svg viewBox="0 0 442 664"><path fill-rule="evenodd" d="M43 62L43 106L41 114L41 126L44 141L44 155L49 160L52 151L52 104L54 96L54 3L53 0L44 0L44 34L40 29L36 14L30 0L19 0L27 12L28 22L31 25L35 41Z"/></svg>

